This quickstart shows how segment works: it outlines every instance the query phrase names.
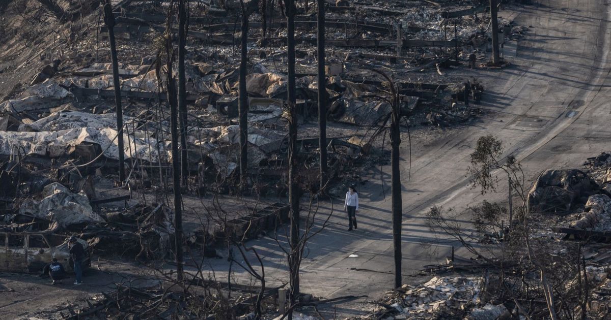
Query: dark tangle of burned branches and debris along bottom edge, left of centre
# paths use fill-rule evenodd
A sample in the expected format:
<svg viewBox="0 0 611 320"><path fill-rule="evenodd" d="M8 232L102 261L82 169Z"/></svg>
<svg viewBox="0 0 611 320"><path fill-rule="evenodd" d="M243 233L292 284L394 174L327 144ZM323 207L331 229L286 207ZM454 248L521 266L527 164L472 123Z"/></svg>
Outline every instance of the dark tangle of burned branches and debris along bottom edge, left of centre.
<svg viewBox="0 0 611 320"><path fill-rule="evenodd" d="M263 293L263 304L266 319L275 316L279 288L285 285L266 289ZM80 310L68 306L68 312L60 312L63 319L94 320L102 316L109 319L254 319L252 304L257 299L256 286L214 282L208 279L192 279L186 291L173 288L170 283L134 288L118 285L110 293L101 293L87 299L87 305ZM286 291L282 291L286 292ZM244 316L238 316L244 315ZM280 318L280 317L278 317ZM315 319L294 314L293 319Z"/></svg>

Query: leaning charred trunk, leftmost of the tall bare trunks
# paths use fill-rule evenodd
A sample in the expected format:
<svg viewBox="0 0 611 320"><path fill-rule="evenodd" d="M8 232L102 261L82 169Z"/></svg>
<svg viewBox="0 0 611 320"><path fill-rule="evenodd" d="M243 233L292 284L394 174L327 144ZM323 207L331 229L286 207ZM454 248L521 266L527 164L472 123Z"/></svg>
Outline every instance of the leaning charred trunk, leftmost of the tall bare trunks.
<svg viewBox="0 0 611 320"><path fill-rule="evenodd" d="M111 43L112 85L115 91L117 106L117 146L119 148L119 182L125 182L125 148L123 147L123 109L121 107L121 84L119 82L119 62L117 61L117 45L114 39L114 14L111 4L104 4L104 23L108 28L108 38Z"/></svg>

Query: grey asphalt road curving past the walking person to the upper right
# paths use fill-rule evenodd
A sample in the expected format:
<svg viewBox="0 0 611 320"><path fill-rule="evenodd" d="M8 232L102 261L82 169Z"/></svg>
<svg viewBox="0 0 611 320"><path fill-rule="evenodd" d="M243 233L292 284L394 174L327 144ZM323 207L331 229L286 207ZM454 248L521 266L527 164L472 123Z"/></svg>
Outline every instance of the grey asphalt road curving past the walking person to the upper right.
<svg viewBox="0 0 611 320"><path fill-rule="evenodd" d="M410 282L408 275L423 265L443 258L452 246L448 241L437 241L425 226L422 217L428 208L442 205L464 210L485 199L470 188L466 178L469 154L481 135L492 133L500 138L506 154L516 155L529 177L545 169L579 168L585 158L611 149L607 3L537 1L500 15L530 26L518 42L516 57L508 57L513 65L503 70L456 71L465 78L477 77L484 84L482 107L489 112L470 126L417 132L412 141L409 179L409 153L404 140L404 282ZM343 204L335 204L331 226L312 238L305 252L303 292L321 297L367 294L371 299L391 288L389 172L386 166L382 171L374 169L368 177L370 182L359 188L358 230L346 231L347 221L340 210ZM502 200L505 192L506 188L500 186L500 194L487 195L486 199ZM331 204L321 204L319 218L330 209ZM283 240L280 243L286 245ZM275 240L265 237L249 241L249 245L264 257L271 282L268 285L287 281L285 255ZM222 276L227 261L210 261L207 268ZM234 270L239 281L249 281L239 267ZM348 310L352 307L354 304L338 305L337 312L354 315Z"/></svg>

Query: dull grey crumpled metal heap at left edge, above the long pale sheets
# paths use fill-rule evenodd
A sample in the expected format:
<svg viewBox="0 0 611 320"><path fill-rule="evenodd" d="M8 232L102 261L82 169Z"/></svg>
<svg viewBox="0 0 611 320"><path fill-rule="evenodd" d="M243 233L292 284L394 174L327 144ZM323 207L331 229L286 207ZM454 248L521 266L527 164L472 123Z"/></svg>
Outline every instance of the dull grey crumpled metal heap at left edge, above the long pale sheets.
<svg viewBox="0 0 611 320"><path fill-rule="evenodd" d="M73 99L73 94L51 80L33 85L21 94L20 99L11 99L0 104L0 110L8 113L20 113L29 110L53 108Z"/></svg>

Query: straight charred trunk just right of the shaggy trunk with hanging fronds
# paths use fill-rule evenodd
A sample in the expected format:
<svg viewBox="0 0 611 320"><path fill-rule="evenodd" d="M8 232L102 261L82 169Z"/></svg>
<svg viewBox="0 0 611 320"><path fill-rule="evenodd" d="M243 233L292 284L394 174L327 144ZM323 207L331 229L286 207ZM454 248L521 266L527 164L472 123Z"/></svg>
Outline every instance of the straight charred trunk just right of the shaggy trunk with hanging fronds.
<svg viewBox="0 0 611 320"><path fill-rule="evenodd" d="M178 111L180 112L180 172L181 185L187 185L189 164L187 156L187 101L185 79L185 54L187 38L187 3L178 0Z"/></svg>

